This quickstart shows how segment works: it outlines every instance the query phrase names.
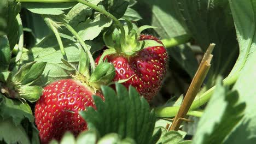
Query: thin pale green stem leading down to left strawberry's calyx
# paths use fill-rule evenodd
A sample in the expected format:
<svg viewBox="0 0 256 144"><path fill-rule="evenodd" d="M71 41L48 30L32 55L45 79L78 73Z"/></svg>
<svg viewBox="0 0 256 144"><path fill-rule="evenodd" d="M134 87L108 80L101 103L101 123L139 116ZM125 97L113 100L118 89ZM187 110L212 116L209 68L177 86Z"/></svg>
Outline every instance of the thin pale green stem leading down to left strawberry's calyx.
<svg viewBox="0 0 256 144"><path fill-rule="evenodd" d="M92 71L95 70L95 61L94 58L91 55L90 49L86 46L86 44L84 43L84 40L80 37L80 35L74 30L73 27L71 27L70 25L68 25L67 23L63 23L66 28L75 36L75 38L78 39L79 43L83 46L84 50L88 53L89 59L90 59L90 63L91 63L91 69Z"/></svg>

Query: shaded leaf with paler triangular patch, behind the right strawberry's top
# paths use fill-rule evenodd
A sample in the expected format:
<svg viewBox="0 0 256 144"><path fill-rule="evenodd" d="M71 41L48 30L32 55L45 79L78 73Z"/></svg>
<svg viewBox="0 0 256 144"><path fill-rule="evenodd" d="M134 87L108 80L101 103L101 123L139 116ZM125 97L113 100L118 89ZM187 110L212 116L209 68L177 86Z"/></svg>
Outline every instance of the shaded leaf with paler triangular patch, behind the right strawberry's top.
<svg viewBox="0 0 256 144"><path fill-rule="evenodd" d="M144 0L138 1L135 7L143 17L143 23L158 27L155 31L162 39L188 33L176 1Z"/></svg>

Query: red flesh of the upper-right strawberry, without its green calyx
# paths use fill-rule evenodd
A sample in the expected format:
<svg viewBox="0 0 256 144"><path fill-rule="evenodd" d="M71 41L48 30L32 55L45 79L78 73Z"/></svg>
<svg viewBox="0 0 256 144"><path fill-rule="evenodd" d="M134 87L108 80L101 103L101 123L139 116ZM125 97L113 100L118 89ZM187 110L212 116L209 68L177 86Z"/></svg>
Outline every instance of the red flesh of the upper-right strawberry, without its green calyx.
<svg viewBox="0 0 256 144"><path fill-rule="evenodd" d="M152 35L141 35L139 40L155 40L162 45L161 41ZM100 57L97 57L96 63ZM132 56L117 52L105 58L115 67L116 75L113 81L128 79L132 76L123 85L126 87L132 85L148 101L158 93L167 69L168 55L164 46L144 47Z"/></svg>

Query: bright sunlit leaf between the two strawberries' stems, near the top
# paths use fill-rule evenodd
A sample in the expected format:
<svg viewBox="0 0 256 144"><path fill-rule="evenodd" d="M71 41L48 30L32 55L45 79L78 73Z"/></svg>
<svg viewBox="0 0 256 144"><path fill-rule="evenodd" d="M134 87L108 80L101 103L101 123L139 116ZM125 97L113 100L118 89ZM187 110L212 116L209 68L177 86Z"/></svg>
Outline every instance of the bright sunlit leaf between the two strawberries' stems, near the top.
<svg viewBox="0 0 256 144"><path fill-rule="evenodd" d="M112 19L102 14L96 14L95 19L87 19L85 22L80 22L77 27L74 27L83 40L92 40L101 33L103 28L109 27L112 24Z"/></svg>

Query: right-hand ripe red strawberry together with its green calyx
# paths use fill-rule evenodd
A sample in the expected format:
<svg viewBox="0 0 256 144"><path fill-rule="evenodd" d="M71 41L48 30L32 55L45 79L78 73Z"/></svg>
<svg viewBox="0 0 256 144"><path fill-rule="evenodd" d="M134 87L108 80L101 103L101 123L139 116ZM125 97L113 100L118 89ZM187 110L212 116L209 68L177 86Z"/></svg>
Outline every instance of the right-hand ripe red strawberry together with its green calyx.
<svg viewBox="0 0 256 144"><path fill-rule="evenodd" d="M139 34L132 33L132 30L129 33L126 31L125 44L122 44L121 34L117 33L114 31L112 38L108 37L111 34L105 34L104 40L110 49L97 57L96 63L107 58L115 67L113 81L130 78L123 85L132 85L148 101L152 100L166 75L168 55L164 45L152 35L141 34L138 37Z"/></svg>

